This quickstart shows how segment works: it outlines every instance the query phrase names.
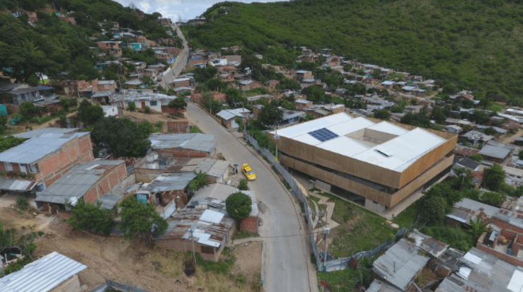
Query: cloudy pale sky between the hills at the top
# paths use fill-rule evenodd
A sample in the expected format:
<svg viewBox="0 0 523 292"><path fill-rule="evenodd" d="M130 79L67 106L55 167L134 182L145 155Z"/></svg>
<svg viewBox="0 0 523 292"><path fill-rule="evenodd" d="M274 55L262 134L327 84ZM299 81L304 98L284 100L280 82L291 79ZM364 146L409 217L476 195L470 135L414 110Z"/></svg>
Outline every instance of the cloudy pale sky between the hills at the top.
<svg viewBox="0 0 523 292"><path fill-rule="evenodd" d="M220 0L115 0L123 6L134 4L140 10L146 13L159 12L163 17L171 18L173 21L178 21L178 16L183 20L195 18L202 15L207 8L222 2ZM243 3L252 2L276 2L285 0L236 0Z"/></svg>

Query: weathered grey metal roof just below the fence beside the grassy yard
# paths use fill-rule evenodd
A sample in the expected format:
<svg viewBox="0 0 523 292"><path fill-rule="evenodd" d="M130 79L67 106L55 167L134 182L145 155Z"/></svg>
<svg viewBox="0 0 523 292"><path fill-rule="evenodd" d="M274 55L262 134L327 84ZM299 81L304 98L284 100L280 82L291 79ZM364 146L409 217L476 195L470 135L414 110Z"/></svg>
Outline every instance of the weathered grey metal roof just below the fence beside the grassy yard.
<svg viewBox="0 0 523 292"><path fill-rule="evenodd" d="M429 261L428 257L420 255L419 250L415 243L401 239L372 264L372 270L406 291L410 281Z"/></svg>

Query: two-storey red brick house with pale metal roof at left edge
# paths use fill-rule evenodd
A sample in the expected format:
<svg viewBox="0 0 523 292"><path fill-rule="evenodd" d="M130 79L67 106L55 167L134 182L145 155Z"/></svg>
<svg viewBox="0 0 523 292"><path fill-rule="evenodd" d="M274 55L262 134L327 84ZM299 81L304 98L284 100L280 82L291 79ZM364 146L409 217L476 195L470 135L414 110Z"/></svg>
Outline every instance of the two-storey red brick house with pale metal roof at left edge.
<svg viewBox="0 0 523 292"><path fill-rule="evenodd" d="M78 129L42 128L14 135L28 139L0 153L0 178L4 192L34 192L56 182L79 163L93 160L91 135ZM10 173L26 175L28 180L16 183ZM11 185L8 182L12 182Z"/></svg>

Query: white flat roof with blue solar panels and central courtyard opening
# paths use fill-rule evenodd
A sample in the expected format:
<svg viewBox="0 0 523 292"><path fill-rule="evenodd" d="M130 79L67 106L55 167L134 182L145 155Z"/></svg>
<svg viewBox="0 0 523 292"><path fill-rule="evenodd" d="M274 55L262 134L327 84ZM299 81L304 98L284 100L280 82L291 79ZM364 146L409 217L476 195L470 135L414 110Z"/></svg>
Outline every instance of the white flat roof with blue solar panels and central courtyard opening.
<svg viewBox="0 0 523 292"><path fill-rule="evenodd" d="M384 132L393 137L376 144L351 135L362 129ZM315 131L319 134L312 133ZM425 153L446 141L425 129L415 128L408 131L390 122L374 123L364 117L350 117L344 112L280 129L277 134L400 173Z"/></svg>

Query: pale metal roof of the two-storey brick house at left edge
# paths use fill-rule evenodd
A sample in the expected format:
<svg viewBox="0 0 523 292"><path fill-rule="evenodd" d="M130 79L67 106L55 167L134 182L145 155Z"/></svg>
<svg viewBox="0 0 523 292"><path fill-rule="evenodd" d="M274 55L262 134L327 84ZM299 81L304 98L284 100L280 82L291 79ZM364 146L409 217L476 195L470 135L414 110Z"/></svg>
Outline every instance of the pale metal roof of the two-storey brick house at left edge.
<svg viewBox="0 0 523 292"><path fill-rule="evenodd" d="M40 134L40 136L34 136L22 144L0 153L0 161L25 164L35 163L47 154L57 151L67 142L87 134L89 133L61 134L52 132Z"/></svg>

